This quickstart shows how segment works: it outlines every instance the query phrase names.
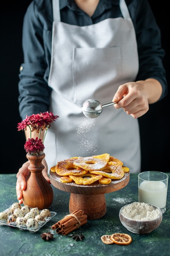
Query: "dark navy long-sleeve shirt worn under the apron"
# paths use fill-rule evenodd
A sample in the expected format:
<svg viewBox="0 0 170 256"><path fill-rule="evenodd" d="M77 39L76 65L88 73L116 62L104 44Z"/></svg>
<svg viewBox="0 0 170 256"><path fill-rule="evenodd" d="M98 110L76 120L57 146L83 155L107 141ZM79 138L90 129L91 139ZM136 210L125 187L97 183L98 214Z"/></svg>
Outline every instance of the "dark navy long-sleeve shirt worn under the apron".
<svg viewBox="0 0 170 256"><path fill-rule="evenodd" d="M162 64L164 51L161 48L159 27L147 0L126 0L135 27L139 73L137 80L157 79L163 88L160 99L167 94L165 70ZM78 26L87 26L107 18L122 17L119 0L100 0L92 17L79 9L73 0L60 0L61 21ZM19 111L26 115L49 110L51 88L48 77L51 62L53 8L52 0L33 0L24 16L23 53L20 67ZM64 67L63 67L64 68Z"/></svg>

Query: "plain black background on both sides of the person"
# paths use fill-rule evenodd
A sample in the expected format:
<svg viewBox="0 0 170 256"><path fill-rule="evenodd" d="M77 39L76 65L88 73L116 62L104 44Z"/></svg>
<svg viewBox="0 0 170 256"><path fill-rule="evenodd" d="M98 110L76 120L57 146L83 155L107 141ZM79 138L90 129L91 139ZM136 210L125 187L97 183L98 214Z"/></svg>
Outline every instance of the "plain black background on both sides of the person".
<svg viewBox="0 0 170 256"><path fill-rule="evenodd" d="M0 4L0 173L17 173L25 162L24 132L17 131L21 121L18 112L18 74L22 55L22 22L31 0L11 1ZM166 51L163 59L170 90L170 47L168 35L170 18L168 7L149 0L150 6L162 34L162 45ZM141 14L142 15L142 14ZM169 172L170 145L170 92L162 101L150 105L150 110L139 118L141 130L142 171Z"/></svg>

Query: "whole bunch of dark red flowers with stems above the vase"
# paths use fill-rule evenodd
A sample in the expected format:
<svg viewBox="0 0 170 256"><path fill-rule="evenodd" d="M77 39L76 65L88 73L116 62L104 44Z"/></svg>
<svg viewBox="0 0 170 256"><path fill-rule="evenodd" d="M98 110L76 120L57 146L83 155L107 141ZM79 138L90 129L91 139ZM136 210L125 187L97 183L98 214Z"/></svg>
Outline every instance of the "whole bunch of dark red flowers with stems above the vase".
<svg viewBox="0 0 170 256"><path fill-rule="evenodd" d="M30 139L28 139L24 145L26 152L31 155L40 155L44 150L44 139L46 136L47 130L51 127L53 121L59 116L53 115L52 112L43 112L40 114L33 114L31 116L26 116L26 119L22 120L21 123L18 123L18 131L26 130L27 126L30 129ZM43 141L40 139L41 131L46 130ZM39 133L39 138L31 139L31 132Z"/></svg>

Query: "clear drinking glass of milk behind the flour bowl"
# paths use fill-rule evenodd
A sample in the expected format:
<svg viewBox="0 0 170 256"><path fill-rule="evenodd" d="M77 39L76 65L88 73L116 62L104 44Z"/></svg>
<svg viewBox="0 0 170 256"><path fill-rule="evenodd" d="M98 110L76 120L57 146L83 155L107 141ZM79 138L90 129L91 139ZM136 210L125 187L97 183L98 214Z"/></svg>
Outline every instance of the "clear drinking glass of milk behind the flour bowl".
<svg viewBox="0 0 170 256"><path fill-rule="evenodd" d="M138 200L166 211L168 175L159 171L145 171L138 174Z"/></svg>

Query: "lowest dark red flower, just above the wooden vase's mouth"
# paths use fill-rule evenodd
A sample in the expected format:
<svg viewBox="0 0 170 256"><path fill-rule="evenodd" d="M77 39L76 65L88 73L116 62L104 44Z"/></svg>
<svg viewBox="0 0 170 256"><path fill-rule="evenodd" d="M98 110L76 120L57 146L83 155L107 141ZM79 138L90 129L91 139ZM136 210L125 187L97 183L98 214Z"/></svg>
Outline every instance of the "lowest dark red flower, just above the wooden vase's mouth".
<svg viewBox="0 0 170 256"><path fill-rule="evenodd" d="M27 139L24 144L24 148L26 153L30 153L31 155L40 155L44 150L44 144L41 139L36 137L36 139Z"/></svg>

